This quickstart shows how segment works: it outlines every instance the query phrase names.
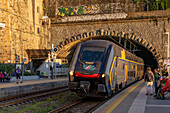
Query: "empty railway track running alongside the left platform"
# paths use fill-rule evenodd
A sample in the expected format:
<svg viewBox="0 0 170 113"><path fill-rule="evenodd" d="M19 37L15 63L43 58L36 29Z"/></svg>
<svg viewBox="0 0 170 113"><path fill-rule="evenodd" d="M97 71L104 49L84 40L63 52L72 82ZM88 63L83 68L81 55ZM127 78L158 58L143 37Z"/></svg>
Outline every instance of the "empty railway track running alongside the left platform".
<svg viewBox="0 0 170 113"><path fill-rule="evenodd" d="M24 103L28 103L31 101L48 98L58 93L67 92L67 91L69 91L68 86L63 86L59 88L53 88L53 89L48 89L48 90L43 90L43 91L37 91L37 92L32 92L32 93L27 93L27 94L1 98L0 108L5 107L5 106L24 104Z"/></svg>

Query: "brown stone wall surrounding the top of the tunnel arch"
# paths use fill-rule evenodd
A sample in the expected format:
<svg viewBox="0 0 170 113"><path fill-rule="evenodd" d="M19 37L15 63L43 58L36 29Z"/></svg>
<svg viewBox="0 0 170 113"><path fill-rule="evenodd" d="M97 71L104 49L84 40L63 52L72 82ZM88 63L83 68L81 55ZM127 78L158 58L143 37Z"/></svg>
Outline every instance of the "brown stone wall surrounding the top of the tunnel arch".
<svg viewBox="0 0 170 113"><path fill-rule="evenodd" d="M114 30L134 34L152 45L158 53L166 58L167 37L163 35L164 29L169 28L167 18L138 19L138 20L110 20L104 22L78 22L55 24L50 28L52 42L55 46L79 34L94 32L98 29Z"/></svg>

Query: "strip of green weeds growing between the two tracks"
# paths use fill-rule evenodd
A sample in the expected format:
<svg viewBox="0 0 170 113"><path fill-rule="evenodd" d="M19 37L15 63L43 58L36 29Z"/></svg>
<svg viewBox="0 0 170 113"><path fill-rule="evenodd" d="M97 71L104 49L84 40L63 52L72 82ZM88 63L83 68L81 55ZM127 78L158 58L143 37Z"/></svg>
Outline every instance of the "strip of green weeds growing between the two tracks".
<svg viewBox="0 0 170 113"><path fill-rule="evenodd" d="M48 98L46 101L33 102L27 105L4 107L0 113L48 113L49 111L79 98L75 93L63 93L58 96ZM72 113L71 111L69 113Z"/></svg>

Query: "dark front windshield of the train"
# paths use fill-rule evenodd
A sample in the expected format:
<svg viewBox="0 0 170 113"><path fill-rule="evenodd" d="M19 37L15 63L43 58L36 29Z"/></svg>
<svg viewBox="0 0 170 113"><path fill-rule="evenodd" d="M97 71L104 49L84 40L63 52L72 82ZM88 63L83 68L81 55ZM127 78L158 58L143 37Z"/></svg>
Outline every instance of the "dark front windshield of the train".
<svg viewBox="0 0 170 113"><path fill-rule="evenodd" d="M84 47L80 59L83 62L101 61L104 50L103 47Z"/></svg>

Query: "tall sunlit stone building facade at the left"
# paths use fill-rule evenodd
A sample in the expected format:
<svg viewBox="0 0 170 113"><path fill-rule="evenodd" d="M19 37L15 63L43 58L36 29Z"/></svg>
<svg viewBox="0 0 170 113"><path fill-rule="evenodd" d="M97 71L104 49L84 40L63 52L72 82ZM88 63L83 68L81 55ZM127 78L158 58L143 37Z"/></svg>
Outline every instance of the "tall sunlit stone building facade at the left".
<svg viewBox="0 0 170 113"><path fill-rule="evenodd" d="M48 49L43 0L0 0L0 63L30 61L26 50Z"/></svg>

